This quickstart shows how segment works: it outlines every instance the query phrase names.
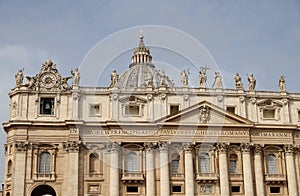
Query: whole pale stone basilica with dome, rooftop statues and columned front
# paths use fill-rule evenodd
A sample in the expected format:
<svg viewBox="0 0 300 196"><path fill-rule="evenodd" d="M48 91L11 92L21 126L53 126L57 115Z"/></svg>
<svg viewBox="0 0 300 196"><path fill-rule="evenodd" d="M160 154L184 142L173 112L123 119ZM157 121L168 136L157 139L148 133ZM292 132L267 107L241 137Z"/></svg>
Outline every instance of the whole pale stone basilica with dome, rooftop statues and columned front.
<svg viewBox="0 0 300 196"><path fill-rule="evenodd" d="M3 124L4 195L298 195L300 94L177 87L155 69L143 36L126 72L109 87L62 77L47 61L16 75ZM175 76L174 76L175 77ZM178 75L180 77L180 75ZM68 80L73 79L72 85Z"/></svg>

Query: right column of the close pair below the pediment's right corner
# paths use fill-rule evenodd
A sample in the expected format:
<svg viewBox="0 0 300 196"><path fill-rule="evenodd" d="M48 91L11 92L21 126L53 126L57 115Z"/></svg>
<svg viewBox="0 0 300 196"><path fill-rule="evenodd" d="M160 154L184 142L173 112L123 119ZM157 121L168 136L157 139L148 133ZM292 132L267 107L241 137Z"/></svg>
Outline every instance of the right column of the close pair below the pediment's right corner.
<svg viewBox="0 0 300 196"><path fill-rule="evenodd" d="M259 144L254 145L254 174L255 174L255 186L257 195L265 195L264 188L264 174L262 167L262 146Z"/></svg>

